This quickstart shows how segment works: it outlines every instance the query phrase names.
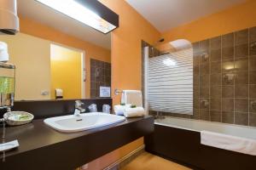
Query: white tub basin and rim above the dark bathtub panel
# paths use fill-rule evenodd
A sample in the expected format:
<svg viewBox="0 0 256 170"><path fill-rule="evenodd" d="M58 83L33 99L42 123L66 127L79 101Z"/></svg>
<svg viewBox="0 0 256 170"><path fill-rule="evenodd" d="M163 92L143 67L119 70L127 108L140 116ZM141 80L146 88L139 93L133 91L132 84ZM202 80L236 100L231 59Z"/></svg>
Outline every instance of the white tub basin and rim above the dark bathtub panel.
<svg viewBox="0 0 256 170"><path fill-rule="evenodd" d="M184 119L172 116L166 116L165 119L156 119L154 123L163 126L177 127L196 132L206 130L215 133L229 134L241 138L256 139L256 127L246 127L220 122L207 122L201 120Z"/></svg>

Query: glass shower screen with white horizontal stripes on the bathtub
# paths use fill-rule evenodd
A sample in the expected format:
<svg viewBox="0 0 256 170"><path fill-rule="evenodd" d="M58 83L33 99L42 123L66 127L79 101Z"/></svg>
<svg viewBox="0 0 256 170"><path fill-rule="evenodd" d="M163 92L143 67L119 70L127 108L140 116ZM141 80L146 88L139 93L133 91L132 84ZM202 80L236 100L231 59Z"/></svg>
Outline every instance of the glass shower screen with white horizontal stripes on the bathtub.
<svg viewBox="0 0 256 170"><path fill-rule="evenodd" d="M181 44L179 44L181 46ZM150 113L193 115L193 48L148 57L144 50L144 105Z"/></svg>

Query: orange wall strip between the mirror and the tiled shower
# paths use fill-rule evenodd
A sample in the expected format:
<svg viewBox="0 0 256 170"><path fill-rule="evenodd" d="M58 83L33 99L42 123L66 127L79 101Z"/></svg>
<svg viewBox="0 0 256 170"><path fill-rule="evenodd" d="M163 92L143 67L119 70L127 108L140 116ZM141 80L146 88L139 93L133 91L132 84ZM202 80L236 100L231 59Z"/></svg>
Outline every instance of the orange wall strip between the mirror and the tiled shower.
<svg viewBox="0 0 256 170"><path fill-rule="evenodd" d="M141 41L154 43L160 32L151 26L124 0L101 0L119 14L119 28L112 32L112 96L113 104L119 104L119 96L113 89L141 89Z"/></svg>

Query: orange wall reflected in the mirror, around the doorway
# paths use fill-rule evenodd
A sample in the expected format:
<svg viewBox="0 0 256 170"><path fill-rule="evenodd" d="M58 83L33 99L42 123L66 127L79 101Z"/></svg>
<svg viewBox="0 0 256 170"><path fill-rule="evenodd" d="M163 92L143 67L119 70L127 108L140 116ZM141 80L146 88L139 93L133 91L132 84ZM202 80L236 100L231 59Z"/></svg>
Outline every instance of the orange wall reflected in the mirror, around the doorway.
<svg viewBox="0 0 256 170"><path fill-rule="evenodd" d="M41 37L52 42L61 43L72 48L79 48L85 51L85 69L86 69L86 98L90 98L90 58L111 62L110 50L101 48L90 42L85 42L77 37L69 36L61 31L57 31L49 26L44 26L35 20L20 17L20 32L35 37Z"/></svg>

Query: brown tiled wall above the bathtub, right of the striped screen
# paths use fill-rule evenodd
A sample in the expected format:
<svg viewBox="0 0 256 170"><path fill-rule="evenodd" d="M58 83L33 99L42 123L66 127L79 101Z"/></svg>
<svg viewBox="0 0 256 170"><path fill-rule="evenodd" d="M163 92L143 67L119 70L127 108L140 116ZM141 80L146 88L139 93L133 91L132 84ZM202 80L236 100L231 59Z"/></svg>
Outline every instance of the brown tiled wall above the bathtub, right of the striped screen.
<svg viewBox="0 0 256 170"><path fill-rule="evenodd" d="M194 42L193 49L194 114L163 114L256 127L256 27Z"/></svg>

